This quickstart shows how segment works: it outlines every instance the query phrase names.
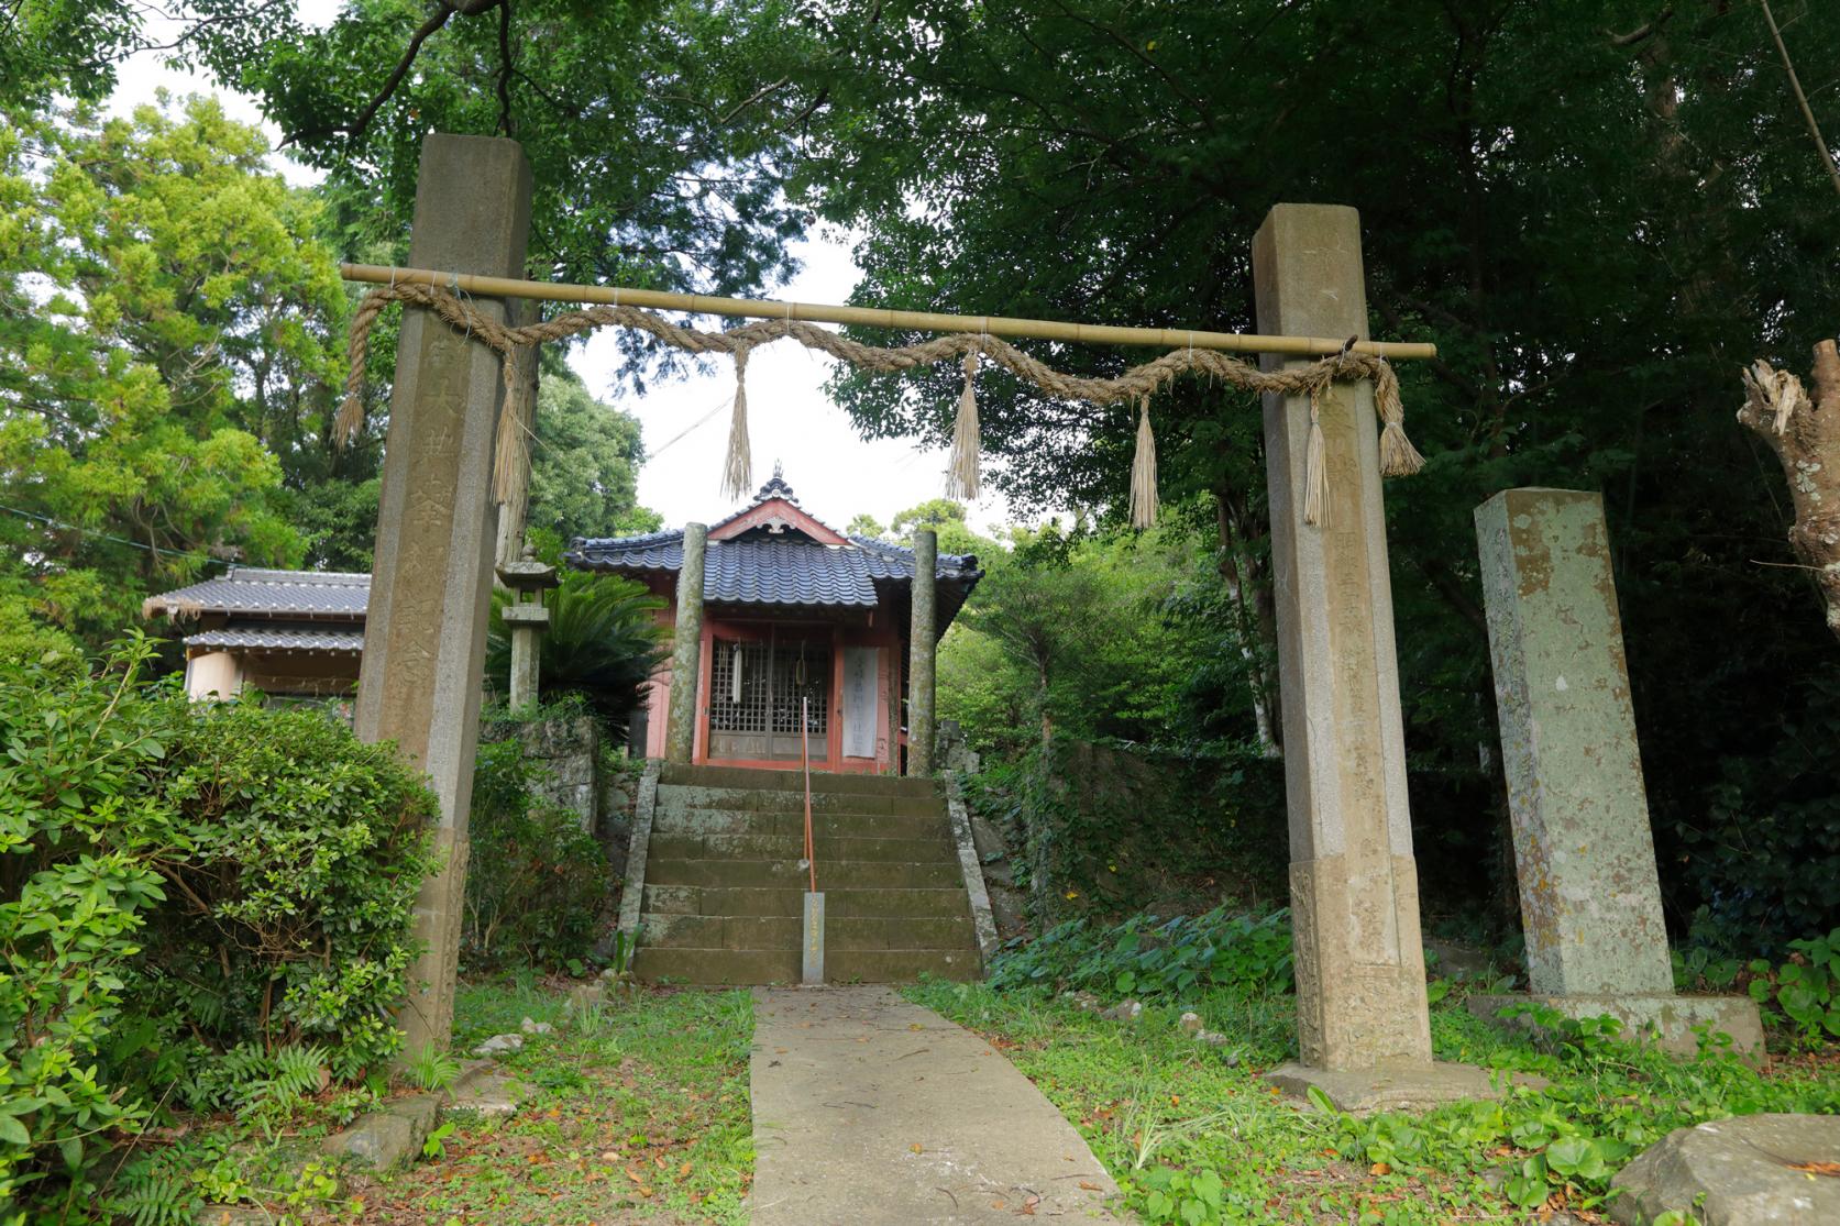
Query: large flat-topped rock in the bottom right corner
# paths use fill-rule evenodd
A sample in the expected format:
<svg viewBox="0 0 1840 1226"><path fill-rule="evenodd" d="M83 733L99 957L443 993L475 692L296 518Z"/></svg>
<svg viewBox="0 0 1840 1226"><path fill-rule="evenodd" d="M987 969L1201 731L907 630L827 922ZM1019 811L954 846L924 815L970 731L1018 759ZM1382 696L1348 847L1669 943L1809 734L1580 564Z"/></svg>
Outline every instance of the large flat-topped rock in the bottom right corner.
<svg viewBox="0 0 1840 1226"><path fill-rule="evenodd" d="M1610 1217L1643 1226L1667 1211L1702 1226L1840 1222L1840 1117L1744 1116L1676 1128L1645 1149L1610 1187ZM1814 1169L1807 1169L1814 1167Z"/></svg>

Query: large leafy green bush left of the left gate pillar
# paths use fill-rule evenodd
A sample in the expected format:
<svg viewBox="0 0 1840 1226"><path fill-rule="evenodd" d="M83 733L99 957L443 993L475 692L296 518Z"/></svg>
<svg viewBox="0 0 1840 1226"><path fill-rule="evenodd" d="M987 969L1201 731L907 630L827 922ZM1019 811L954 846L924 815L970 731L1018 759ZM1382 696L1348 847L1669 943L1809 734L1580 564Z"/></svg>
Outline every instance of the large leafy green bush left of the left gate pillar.
<svg viewBox="0 0 1840 1226"><path fill-rule="evenodd" d="M151 655L0 661L0 1202L68 1219L107 1134L394 1055L434 867L434 797L388 746L191 705Z"/></svg>

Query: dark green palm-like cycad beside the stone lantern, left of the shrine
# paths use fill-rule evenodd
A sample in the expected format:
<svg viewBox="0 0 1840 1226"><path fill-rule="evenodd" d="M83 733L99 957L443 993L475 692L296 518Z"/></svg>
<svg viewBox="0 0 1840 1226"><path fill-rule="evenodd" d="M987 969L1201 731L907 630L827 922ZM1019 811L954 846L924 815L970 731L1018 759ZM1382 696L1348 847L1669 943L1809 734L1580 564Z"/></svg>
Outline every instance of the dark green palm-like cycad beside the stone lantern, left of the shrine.
<svg viewBox="0 0 1840 1226"><path fill-rule="evenodd" d="M664 659L664 628L657 613L664 600L618 574L563 571L548 593L550 624L543 633L537 687L543 701L581 694L609 729L626 729L638 687ZM500 609L512 593L491 595L486 631L486 679L504 694L512 676L512 635Z"/></svg>

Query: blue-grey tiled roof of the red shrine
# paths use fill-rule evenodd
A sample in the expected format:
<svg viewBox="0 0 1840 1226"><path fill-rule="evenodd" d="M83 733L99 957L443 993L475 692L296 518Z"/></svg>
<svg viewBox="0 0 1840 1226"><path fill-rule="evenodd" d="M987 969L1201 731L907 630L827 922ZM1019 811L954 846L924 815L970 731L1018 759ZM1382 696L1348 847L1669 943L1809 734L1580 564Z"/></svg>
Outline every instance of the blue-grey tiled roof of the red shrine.
<svg viewBox="0 0 1840 1226"><path fill-rule="evenodd" d="M583 571L675 574L684 563L683 532L578 539L563 554ZM848 547L808 539L710 541L703 558L703 598L712 604L859 606L880 604L876 582L911 584L911 549L852 538ZM970 589L983 573L975 558L942 554L937 578Z"/></svg>

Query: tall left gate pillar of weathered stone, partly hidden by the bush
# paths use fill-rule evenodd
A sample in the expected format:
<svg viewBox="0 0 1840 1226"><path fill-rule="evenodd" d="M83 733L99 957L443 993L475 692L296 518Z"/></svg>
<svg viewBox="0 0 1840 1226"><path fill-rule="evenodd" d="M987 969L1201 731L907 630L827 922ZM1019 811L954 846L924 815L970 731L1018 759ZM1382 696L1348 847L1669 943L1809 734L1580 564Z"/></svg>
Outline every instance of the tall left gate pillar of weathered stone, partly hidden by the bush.
<svg viewBox="0 0 1840 1226"><path fill-rule="evenodd" d="M530 166L512 140L431 134L421 145L408 263L523 276L530 234ZM504 318L502 304L482 311ZM480 677L491 607L497 510L491 449L499 357L432 311L405 307L390 394L390 434L377 510L377 552L364 620L353 727L394 740L440 797L440 874L421 885L399 1014L405 1058L445 1047L467 862L467 808L478 747Z"/></svg>

